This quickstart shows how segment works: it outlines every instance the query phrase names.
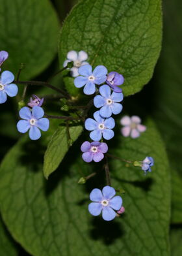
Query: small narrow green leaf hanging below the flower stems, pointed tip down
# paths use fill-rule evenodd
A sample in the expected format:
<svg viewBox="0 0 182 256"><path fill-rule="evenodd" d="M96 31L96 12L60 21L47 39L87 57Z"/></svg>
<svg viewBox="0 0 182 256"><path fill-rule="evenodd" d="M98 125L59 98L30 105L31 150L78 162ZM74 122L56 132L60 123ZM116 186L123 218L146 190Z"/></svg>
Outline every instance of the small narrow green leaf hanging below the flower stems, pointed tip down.
<svg viewBox="0 0 182 256"><path fill-rule="evenodd" d="M81 125L70 127L70 136L73 140L77 140L81 135L83 127ZM64 155L68 152L68 134L66 127L59 127L53 134L44 155L44 176L47 179L49 175L59 167Z"/></svg>

